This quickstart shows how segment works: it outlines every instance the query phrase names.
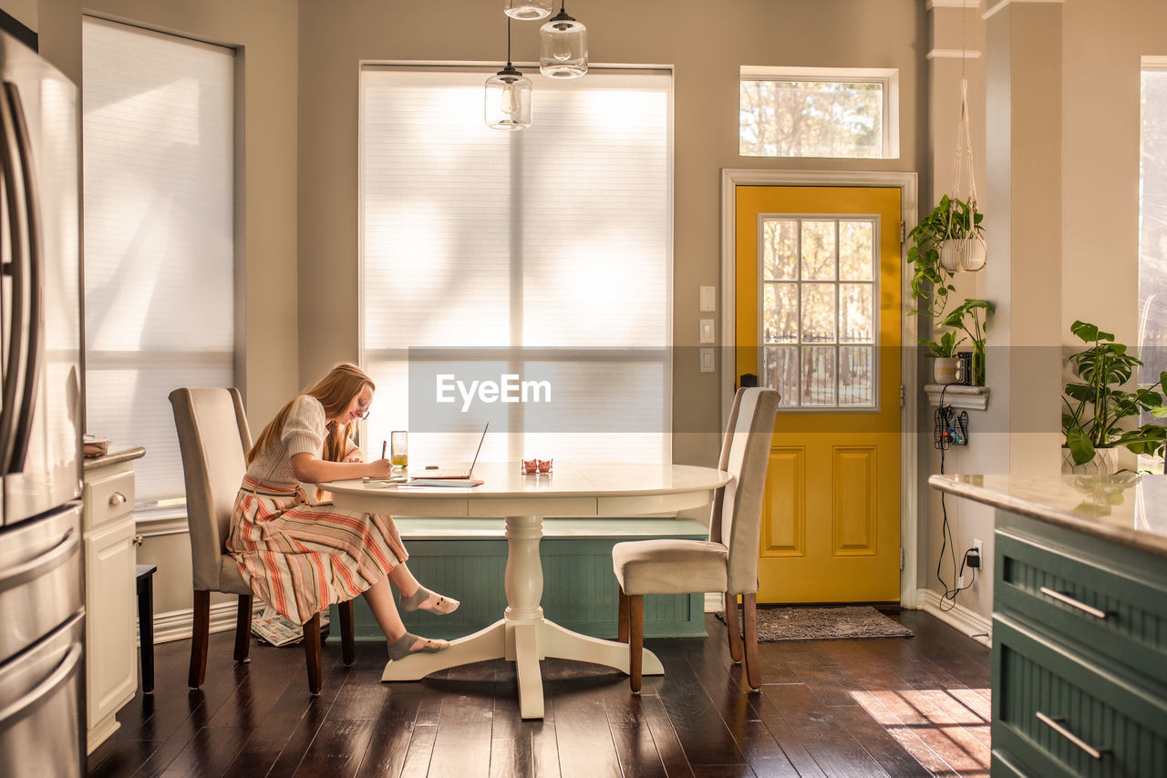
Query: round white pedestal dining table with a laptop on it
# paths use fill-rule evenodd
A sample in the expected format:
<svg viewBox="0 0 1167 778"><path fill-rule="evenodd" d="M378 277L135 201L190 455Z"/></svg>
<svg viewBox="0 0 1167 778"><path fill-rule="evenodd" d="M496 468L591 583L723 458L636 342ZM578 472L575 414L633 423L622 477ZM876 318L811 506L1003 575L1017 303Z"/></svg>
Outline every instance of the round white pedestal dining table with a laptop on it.
<svg viewBox="0 0 1167 778"><path fill-rule="evenodd" d="M425 471L411 475L424 477ZM385 665L383 681L415 681L447 667L487 659L515 663L519 713L543 717L546 657L589 661L624 673L628 644L580 635L543 617L543 565L539 539L547 516L621 518L699 507L733 476L722 470L684 464L627 465L557 461L551 475L524 476L517 462L478 463L478 486L377 486L361 481L320 484L333 503L348 511L441 518L504 518L506 520L506 611L490 626L450 642L438 653L415 653ZM615 580L613 580L615 586ZM661 675L664 667L644 652L643 673Z"/></svg>

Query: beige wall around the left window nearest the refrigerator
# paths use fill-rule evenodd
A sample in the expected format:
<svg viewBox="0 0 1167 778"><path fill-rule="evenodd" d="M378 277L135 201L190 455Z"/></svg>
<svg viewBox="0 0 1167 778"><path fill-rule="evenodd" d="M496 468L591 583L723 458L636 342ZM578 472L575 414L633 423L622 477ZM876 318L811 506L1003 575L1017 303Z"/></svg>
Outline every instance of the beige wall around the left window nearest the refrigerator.
<svg viewBox="0 0 1167 778"><path fill-rule="evenodd" d="M6 10L9 1L0 3ZM41 52L82 80L79 0L41 0ZM240 317L237 380L247 413L261 427L299 384L296 341L296 6L293 0L96 0L86 13L187 35L238 50L239 166L236 226ZM131 441L132 442L132 441ZM148 454L148 453L147 453ZM159 566L155 611L190 608L190 547L186 535L152 535L141 562Z"/></svg>

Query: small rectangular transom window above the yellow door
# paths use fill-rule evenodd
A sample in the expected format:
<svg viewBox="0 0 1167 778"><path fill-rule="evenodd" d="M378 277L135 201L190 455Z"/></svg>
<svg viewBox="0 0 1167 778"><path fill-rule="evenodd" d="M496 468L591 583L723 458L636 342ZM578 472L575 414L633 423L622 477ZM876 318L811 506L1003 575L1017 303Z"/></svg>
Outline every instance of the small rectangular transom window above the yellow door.
<svg viewBox="0 0 1167 778"><path fill-rule="evenodd" d="M742 65L741 156L897 159L899 71Z"/></svg>

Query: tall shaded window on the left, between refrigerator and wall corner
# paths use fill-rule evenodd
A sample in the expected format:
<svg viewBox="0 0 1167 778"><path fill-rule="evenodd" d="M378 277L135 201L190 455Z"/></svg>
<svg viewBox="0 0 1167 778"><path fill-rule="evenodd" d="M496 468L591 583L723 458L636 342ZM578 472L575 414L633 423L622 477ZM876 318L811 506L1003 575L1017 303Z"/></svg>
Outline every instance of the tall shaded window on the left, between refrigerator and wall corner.
<svg viewBox="0 0 1167 778"><path fill-rule="evenodd" d="M230 386L235 52L86 17L89 432L144 446L140 503L183 495L167 394Z"/></svg>

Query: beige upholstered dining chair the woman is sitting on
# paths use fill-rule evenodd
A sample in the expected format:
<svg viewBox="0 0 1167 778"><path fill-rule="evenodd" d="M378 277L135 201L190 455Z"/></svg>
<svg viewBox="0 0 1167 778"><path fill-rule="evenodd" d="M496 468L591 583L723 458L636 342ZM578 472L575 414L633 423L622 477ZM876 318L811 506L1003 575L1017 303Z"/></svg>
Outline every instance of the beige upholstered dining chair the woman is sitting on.
<svg viewBox="0 0 1167 778"><path fill-rule="evenodd" d="M225 553L231 509L247 469L251 430L237 388L176 388L170 392L174 423L179 430L182 471L187 483L187 520L190 525L191 572L195 584L195 621L190 642L191 689L207 675L211 593L239 595L235 628L235 660L247 661L251 645L251 588L235 559ZM351 665L355 653L352 601L342 603L341 653ZM320 614L303 625L308 689L320 694Z"/></svg>

